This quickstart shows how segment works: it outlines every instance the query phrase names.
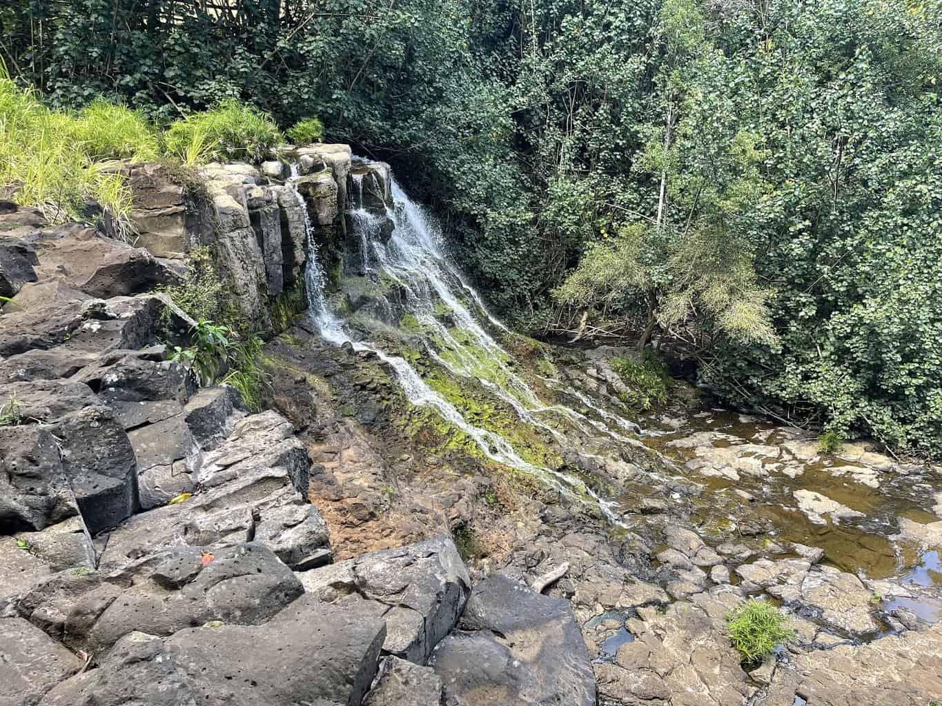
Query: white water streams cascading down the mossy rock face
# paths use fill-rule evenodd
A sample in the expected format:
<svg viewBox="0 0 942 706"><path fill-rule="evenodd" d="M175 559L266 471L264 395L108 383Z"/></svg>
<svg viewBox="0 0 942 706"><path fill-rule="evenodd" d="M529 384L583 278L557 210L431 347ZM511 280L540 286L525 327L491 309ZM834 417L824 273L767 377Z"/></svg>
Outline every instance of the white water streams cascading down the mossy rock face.
<svg viewBox="0 0 942 706"><path fill-rule="evenodd" d="M571 441L558 428L547 424L541 416L552 415L583 430L589 425L612 439L627 441L618 431L574 409L544 405L526 380L513 371L511 355L479 323L478 317L496 329L508 331L487 312L478 293L443 255L440 249L441 234L435 222L393 181L395 206L387 211L386 216L392 219L394 230L389 241L382 244L376 237L382 217L364 208L362 179L361 175L354 175L349 222L360 238L364 270L369 270L375 263L384 277L398 284L405 299L401 318L406 320L408 317L411 326L421 332L426 352L433 361L452 375L477 380L495 398L513 409L521 422L539 429L563 444L563 447L570 446ZM528 461L521 457L510 441L495 431L469 422L445 396L433 390L408 361L383 351L379 345L352 340L344 323L327 305L323 269L317 258L309 224L305 223L305 227L308 227L310 253L305 281L309 288L311 317L324 339L336 345L349 342L356 350L374 352L396 372L410 403L436 409L450 425L473 439L487 457L533 475L579 502L595 505L609 521L622 524L614 503L599 497L577 477ZM459 291L465 293L467 298L463 300L457 294ZM443 324L441 318L447 319L449 326Z"/></svg>

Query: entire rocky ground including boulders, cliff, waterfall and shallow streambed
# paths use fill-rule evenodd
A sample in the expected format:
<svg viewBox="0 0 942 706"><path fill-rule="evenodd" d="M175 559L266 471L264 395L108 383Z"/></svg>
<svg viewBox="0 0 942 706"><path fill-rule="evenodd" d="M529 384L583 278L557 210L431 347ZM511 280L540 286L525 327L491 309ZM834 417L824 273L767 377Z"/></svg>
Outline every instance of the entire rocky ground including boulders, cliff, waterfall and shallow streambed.
<svg viewBox="0 0 942 706"><path fill-rule="evenodd" d="M199 198L116 165L134 245L0 209L0 703L942 696L937 467L679 384L632 413L628 352L504 329L388 167L292 154ZM167 360L203 247L268 341L264 410ZM797 636L743 666L755 597Z"/></svg>

